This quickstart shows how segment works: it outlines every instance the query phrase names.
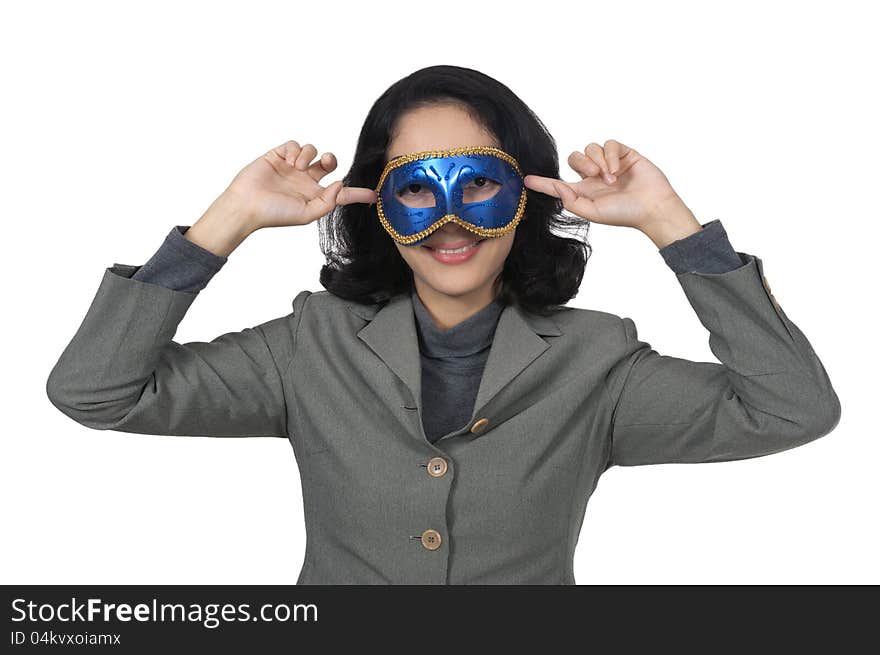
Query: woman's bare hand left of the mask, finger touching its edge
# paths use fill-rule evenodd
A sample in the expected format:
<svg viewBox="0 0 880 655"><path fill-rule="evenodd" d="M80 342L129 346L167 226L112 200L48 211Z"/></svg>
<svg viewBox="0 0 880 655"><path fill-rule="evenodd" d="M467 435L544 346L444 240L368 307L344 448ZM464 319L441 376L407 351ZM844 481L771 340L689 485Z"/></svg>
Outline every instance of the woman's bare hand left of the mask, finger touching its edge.
<svg viewBox="0 0 880 655"><path fill-rule="evenodd" d="M186 231L193 243L227 257L252 232L264 227L306 225L337 205L376 202L376 192L318 184L336 169L336 157L318 154L311 143L287 141L245 166L204 215Z"/></svg>

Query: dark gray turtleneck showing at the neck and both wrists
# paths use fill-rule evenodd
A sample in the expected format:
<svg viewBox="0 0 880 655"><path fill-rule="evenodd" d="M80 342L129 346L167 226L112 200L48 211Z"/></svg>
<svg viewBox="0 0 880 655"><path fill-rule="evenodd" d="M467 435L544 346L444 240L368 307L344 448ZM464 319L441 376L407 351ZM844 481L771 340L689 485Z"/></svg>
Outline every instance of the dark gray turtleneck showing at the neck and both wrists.
<svg viewBox="0 0 880 655"><path fill-rule="evenodd" d="M204 289L227 259L184 238L189 227L172 228L133 279L189 293ZM660 249L673 271L723 273L743 265L719 219L704 223L702 228ZM410 293L422 360L422 423L425 436L433 443L461 429L470 419L504 306L496 298L458 325L441 330L415 288Z"/></svg>

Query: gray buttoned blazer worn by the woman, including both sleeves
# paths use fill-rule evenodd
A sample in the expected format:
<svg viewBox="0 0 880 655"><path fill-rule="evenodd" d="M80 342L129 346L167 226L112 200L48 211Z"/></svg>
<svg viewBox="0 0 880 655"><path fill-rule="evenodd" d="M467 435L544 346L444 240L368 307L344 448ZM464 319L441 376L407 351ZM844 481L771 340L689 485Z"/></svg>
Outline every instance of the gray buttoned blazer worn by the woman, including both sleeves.
<svg viewBox="0 0 880 655"><path fill-rule="evenodd" d="M759 457L830 432L840 403L761 260L677 274L721 363L659 355L629 318L501 314L474 412L422 430L412 300L302 291L293 311L208 342L197 297L105 269L47 382L98 430L289 439L306 552L297 584L575 584L587 502L609 467Z"/></svg>

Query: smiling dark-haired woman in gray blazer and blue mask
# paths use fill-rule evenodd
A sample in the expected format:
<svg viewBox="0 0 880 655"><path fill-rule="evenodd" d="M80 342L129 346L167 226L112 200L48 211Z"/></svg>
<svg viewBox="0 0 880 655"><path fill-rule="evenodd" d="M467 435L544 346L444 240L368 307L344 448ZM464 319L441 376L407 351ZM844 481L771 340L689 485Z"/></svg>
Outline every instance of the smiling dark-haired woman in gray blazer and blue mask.
<svg viewBox="0 0 880 655"><path fill-rule="evenodd" d="M563 182L510 89L434 66L376 101L345 186L320 184L336 159L317 153L270 150L146 265L106 269L47 384L90 428L289 439L298 584L574 584L609 467L758 457L837 425L761 260L635 149L591 143L568 160L581 180ZM249 234L324 217L325 290L210 343L172 340ZM589 247L559 232L586 221L653 241L721 363L658 355L631 319L563 306Z"/></svg>

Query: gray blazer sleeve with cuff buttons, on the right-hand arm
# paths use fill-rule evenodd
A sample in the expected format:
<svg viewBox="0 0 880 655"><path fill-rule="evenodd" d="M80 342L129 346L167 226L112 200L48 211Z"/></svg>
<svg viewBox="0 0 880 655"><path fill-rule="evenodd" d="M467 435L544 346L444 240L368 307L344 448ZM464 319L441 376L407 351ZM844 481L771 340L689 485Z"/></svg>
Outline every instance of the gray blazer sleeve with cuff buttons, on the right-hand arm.
<svg viewBox="0 0 880 655"><path fill-rule="evenodd" d="M771 294L761 259L738 254L745 264L728 272L677 274L720 363L660 355L621 319L607 467L760 457L837 426L825 367Z"/></svg>

